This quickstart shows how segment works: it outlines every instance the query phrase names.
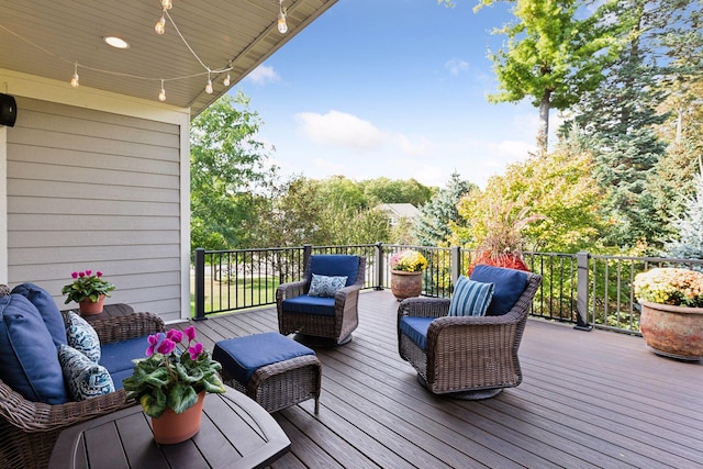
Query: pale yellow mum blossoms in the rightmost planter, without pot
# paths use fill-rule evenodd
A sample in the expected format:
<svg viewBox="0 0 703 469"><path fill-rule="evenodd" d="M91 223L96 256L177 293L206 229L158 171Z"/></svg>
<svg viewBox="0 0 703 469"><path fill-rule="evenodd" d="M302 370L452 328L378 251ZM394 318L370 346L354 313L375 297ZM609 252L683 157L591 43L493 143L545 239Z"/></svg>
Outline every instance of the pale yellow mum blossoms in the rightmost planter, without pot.
<svg viewBox="0 0 703 469"><path fill-rule="evenodd" d="M676 306L703 306L703 272L658 267L635 276L635 297L639 301Z"/></svg>

